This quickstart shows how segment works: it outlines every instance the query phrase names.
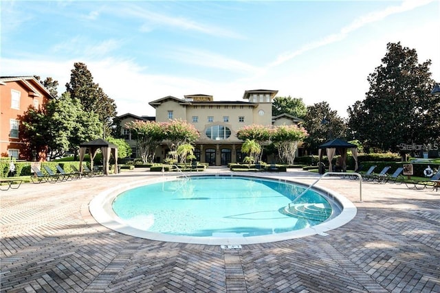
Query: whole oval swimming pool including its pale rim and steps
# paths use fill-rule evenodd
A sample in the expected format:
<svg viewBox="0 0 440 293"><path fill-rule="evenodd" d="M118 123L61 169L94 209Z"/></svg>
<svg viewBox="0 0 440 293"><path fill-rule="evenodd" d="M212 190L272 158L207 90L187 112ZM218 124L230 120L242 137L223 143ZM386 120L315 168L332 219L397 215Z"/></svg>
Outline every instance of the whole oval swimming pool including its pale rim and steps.
<svg viewBox="0 0 440 293"><path fill-rule="evenodd" d="M304 189L293 182L253 176L166 178L98 196L90 211L104 226L148 239L274 242L323 233L344 213L339 197L327 191L307 191L296 200Z"/></svg>

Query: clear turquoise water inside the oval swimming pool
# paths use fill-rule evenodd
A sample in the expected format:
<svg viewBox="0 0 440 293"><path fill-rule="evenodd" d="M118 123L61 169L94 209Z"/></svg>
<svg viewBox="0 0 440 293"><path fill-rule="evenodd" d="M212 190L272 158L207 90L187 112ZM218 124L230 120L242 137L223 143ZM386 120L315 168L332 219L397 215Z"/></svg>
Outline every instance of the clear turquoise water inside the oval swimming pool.
<svg viewBox="0 0 440 293"><path fill-rule="evenodd" d="M296 231L326 219L283 213L305 187L263 178L201 176L124 191L113 201L123 222L141 231L192 237L250 237ZM331 209L316 191L296 204Z"/></svg>

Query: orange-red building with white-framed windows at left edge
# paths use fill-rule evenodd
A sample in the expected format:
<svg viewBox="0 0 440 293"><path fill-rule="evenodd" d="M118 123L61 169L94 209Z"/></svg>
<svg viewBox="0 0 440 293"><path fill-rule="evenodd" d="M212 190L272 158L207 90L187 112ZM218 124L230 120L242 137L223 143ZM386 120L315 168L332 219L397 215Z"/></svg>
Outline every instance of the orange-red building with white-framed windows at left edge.
<svg viewBox="0 0 440 293"><path fill-rule="evenodd" d="M41 108L50 92L33 76L0 77L0 156L31 161L20 134L21 117L28 108Z"/></svg>

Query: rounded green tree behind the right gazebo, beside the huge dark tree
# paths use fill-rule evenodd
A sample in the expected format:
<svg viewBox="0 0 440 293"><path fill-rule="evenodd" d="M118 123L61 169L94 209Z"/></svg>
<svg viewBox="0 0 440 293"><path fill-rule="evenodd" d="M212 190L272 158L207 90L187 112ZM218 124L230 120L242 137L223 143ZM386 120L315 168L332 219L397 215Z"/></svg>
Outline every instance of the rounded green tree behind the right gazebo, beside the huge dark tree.
<svg viewBox="0 0 440 293"><path fill-rule="evenodd" d="M303 125L309 133L305 142L311 150L318 149L319 145L331 139L347 136L347 125L327 102L308 106Z"/></svg>

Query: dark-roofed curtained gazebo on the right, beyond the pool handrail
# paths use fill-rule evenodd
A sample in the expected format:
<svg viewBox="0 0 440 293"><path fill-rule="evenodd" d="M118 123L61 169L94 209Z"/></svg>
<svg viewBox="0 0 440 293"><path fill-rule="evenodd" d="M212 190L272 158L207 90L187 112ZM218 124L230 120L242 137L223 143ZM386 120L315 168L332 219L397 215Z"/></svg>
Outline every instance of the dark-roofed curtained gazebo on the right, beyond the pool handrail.
<svg viewBox="0 0 440 293"><path fill-rule="evenodd" d="M355 169L358 169L358 146L353 143L343 141L342 139L333 139L332 141L327 141L327 143L320 145L318 148L319 161L322 160L322 150L326 150L327 158L329 159L329 171L331 171L331 160L333 159L333 156L339 154L342 161L342 170L346 172L348 149L351 150L351 155L353 156L353 159L355 159Z"/></svg>

